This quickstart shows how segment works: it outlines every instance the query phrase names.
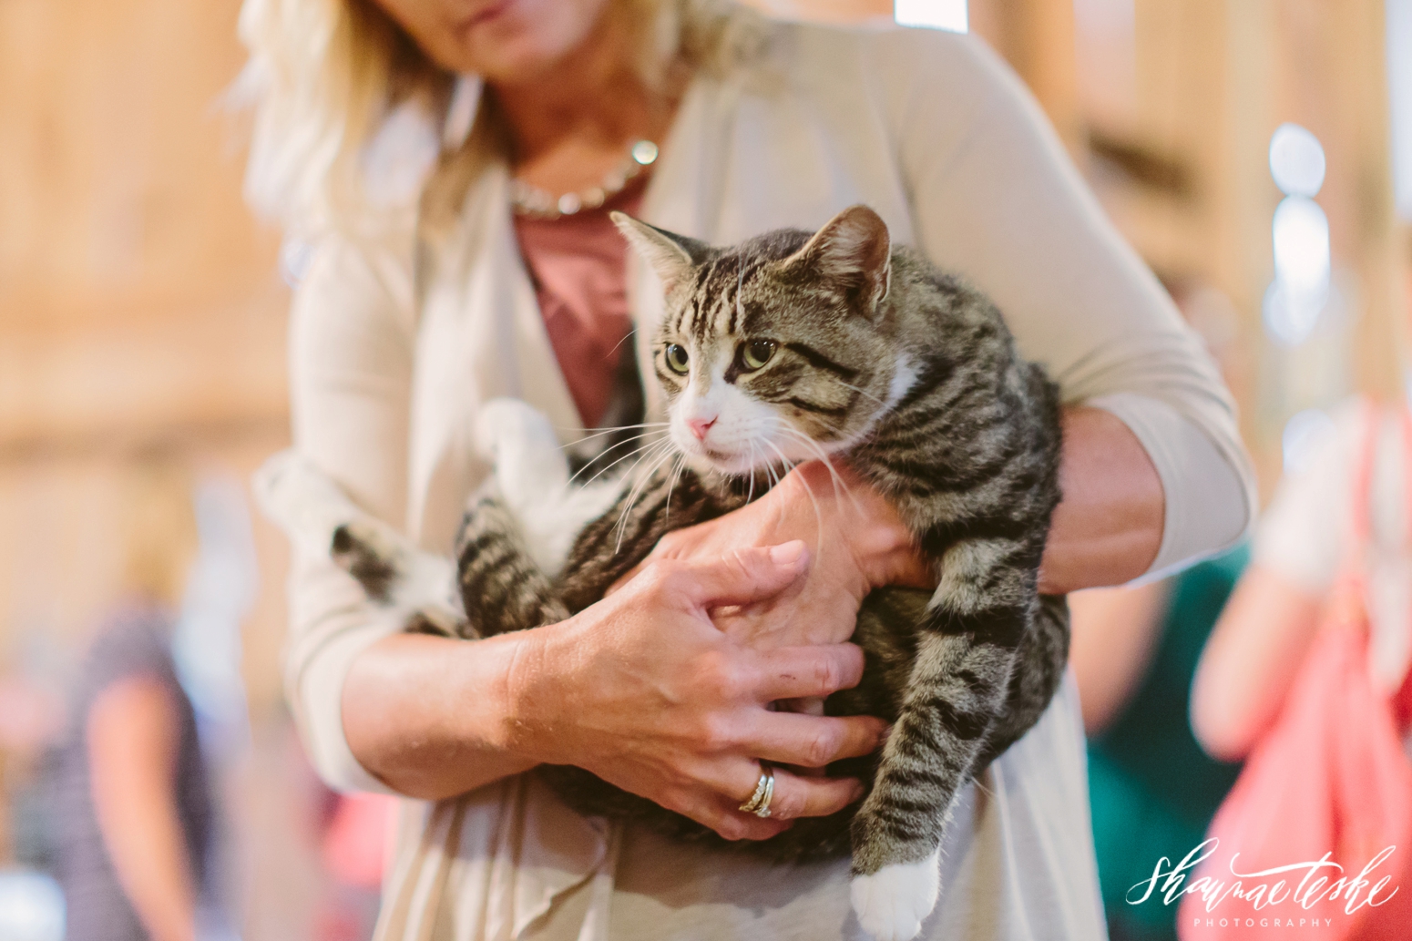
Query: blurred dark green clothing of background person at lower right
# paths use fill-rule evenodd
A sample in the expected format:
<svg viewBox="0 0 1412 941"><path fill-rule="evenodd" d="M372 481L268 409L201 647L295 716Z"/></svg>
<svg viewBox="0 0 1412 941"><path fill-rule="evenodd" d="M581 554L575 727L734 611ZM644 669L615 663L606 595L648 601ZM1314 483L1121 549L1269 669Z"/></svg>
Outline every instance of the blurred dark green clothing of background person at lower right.
<svg viewBox="0 0 1412 941"><path fill-rule="evenodd" d="M1176 940L1176 900L1166 906L1154 892L1134 906L1128 890L1149 880L1162 856L1176 863L1206 838L1240 771L1207 757L1189 712L1202 649L1248 561L1243 545L1172 579L1147 675L1113 725L1089 743L1093 842L1113 941Z"/></svg>

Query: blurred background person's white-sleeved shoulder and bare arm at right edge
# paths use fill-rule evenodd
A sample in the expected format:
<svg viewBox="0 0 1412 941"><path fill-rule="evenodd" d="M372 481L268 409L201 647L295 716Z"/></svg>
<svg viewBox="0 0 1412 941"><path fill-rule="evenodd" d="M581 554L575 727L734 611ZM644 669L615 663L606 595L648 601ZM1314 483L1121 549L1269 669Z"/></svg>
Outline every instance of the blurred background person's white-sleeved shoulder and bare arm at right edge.
<svg viewBox="0 0 1412 941"><path fill-rule="evenodd" d="M1401 398L1343 403L1308 444L1302 466L1281 480L1257 531L1250 569L1196 677L1192 721L1211 754L1243 759L1269 730L1350 564L1363 569L1372 681L1388 695L1404 687L1412 661L1406 410ZM1351 558L1354 551L1361 558Z"/></svg>

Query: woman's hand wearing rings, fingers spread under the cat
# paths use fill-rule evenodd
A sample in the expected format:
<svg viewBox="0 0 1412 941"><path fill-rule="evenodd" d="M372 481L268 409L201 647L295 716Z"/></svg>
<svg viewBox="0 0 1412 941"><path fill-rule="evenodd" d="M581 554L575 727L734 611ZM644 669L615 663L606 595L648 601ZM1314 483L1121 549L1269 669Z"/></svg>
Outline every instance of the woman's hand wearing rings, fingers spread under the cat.
<svg viewBox="0 0 1412 941"><path fill-rule="evenodd" d="M587 769L727 839L764 839L792 818L843 810L860 797L857 781L778 766L867 754L884 723L774 712L770 704L853 687L863 653L840 643L755 644L712 622L723 606L778 596L806 569L802 543L657 560L575 617L524 632L535 637L507 680L508 747ZM737 810L755 790L760 760L777 766L770 819Z"/></svg>

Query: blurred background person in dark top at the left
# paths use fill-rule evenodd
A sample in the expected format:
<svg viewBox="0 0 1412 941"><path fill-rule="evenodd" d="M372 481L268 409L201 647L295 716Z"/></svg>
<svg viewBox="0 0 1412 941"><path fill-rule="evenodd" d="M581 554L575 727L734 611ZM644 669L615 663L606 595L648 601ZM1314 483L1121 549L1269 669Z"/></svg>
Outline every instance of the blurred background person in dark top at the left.
<svg viewBox="0 0 1412 941"><path fill-rule="evenodd" d="M192 941L215 818L171 650L198 548L192 482L161 451L124 476L126 592L79 671L52 771L56 873L69 941Z"/></svg>

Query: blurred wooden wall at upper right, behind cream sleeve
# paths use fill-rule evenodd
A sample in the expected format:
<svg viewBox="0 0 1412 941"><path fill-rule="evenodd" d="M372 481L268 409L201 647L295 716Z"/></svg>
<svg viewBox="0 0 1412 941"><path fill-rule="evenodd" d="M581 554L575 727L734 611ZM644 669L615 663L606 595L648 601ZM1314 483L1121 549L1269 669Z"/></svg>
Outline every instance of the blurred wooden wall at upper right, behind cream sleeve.
<svg viewBox="0 0 1412 941"><path fill-rule="evenodd" d="M1123 0L1080 0L1091 8ZM1409 254L1392 212L1382 0L1137 0L1131 48L1084 45L1080 102L1090 179L1114 222L1169 283L1214 288L1234 315L1228 379L1265 493L1292 413L1351 391L1401 389ZM1131 88L1084 88L1084 73ZM1330 223L1341 311L1295 349L1269 339L1271 222L1282 194L1269 140L1293 122L1327 157L1316 201Z"/></svg>

